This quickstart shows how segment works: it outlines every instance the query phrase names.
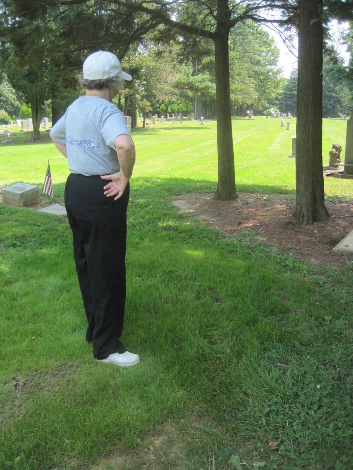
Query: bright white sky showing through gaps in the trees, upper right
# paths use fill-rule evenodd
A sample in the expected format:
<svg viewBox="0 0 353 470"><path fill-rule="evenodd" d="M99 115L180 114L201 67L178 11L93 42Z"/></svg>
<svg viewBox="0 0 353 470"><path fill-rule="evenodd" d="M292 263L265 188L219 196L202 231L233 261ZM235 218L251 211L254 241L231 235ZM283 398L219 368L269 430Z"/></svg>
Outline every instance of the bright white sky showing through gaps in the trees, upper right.
<svg viewBox="0 0 353 470"><path fill-rule="evenodd" d="M347 64L350 54L346 47L341 43L339 34L339 31L345 30L346 27L346 24L338 24L335 20L329 24L329 32L332 37L332 41L335 44L336 50ZM297 69L298 37L295 37L293 41L294 47L292 48L293 53L291 53L284 44L283 39L275 31L268 28L265 29L275 39L276 46L279 49L279 65L283 69L282 76L289 78L291 71Z"/></svg>

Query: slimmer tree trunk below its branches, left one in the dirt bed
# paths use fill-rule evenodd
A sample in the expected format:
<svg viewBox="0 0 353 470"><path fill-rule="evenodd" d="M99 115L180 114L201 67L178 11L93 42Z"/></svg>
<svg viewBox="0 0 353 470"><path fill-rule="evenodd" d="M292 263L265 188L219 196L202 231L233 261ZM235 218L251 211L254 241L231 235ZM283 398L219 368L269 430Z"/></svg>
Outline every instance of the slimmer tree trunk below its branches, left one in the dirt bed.
<svg viewBox="0 0 353 470"><path fill-rule="evenodd" d="M214 39L216 60L216 113L218 186L217 199L234 200L237 193L234 174L234 149L229 91L229 29L219 28Z"/></svg>

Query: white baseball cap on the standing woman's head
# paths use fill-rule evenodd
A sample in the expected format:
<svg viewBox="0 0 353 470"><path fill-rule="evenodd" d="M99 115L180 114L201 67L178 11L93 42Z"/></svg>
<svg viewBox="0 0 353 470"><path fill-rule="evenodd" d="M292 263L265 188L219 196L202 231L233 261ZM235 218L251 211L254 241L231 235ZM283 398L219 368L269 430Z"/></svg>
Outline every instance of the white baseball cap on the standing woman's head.
<svg viewBox="0 0 353 470"><path fill-rule="evenodd" d="M99 50L83 62L83 78L86 80L103 80L117 76L132 80L131 75L122 71L118 57L112 52Z"/></svg>

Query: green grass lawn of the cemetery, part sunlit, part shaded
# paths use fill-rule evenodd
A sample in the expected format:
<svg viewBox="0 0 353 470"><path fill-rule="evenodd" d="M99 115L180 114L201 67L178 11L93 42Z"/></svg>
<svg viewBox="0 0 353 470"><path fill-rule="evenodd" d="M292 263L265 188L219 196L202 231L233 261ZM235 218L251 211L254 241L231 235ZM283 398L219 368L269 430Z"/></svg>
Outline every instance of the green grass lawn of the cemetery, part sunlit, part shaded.
<svg viewBox="0 0 353 470"><path fill-rule="evenodd" d="M294 193L294 128L233 120L238 192ZM346 122L323 131L326 164ZM49 159L62 202L66 160L27 139L0 144L0 183L41 189ZM352 271L172 208L174 194L216 188L214 121L133 139L122 339L138 366L98 364L84 341L66 217L0 207L0 469L350 470ZM352 187L325 179L327 198Z"/></svg>

